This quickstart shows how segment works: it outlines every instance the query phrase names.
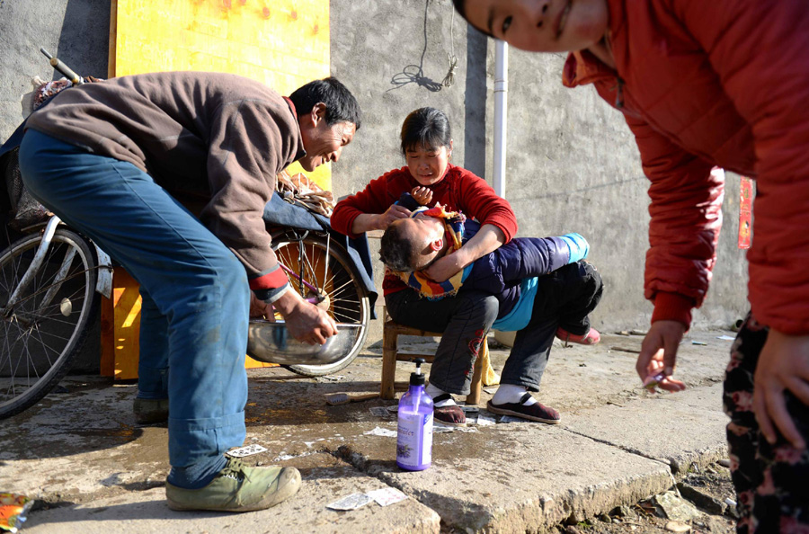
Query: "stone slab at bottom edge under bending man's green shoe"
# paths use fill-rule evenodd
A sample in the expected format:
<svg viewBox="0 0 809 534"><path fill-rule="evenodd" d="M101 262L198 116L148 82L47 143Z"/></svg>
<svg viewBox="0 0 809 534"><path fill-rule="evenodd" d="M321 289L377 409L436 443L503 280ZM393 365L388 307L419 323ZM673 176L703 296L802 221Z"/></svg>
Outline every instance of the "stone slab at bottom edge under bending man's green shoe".
<svg viewBox="0 0 809 534"><path fill-rule="evenodd" d="M31 534L95 534L115 532L392 532L435 533L436 512L412 498L389 506L369 503L358 510L335 512L326 508L343 496L366 493L384 483L362 475L329 454L298 458L295 464L303 485L295 497L269 510L251 513L173 512L165 503L164 488L129 492L35 512L25 524Z"/></svg>

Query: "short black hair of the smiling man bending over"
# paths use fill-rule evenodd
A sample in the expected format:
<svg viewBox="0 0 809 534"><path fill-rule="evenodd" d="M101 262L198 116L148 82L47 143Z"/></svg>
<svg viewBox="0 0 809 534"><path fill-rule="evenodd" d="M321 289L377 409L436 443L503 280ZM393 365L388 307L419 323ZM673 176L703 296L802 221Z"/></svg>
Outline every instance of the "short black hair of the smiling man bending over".
<svg viewBox="0 0 809 534"><path fill-rule="evenodd" d="M304 115L323 102L326 106L326 124L332 126L338 122L352 122L360 129L362 111L360 104L345 85L333 77L314 80L302 85L289 95L289 100L295 104L298 116Z"/></svg>

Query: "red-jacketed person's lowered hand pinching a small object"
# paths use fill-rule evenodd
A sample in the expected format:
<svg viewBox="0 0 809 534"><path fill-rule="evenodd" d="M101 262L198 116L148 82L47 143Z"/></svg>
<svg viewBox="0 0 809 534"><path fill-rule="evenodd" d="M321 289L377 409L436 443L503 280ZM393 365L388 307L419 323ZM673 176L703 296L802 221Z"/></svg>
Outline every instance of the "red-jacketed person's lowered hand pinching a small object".
<svg viewBox="0 0 809 534"><path fill-rule="evenodd" d="M655 382L666 391L681 391L685 384L671 378L677 364L677 348L686 327L679 321L655 321L641 343L635 369L644 386Z"/></svg>

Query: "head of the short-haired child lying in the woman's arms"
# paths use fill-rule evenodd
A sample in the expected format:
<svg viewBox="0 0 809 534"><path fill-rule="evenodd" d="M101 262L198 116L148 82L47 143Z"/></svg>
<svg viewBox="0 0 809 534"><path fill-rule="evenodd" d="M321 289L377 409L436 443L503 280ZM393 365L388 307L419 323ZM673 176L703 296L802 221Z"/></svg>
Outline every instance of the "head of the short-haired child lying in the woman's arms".
<svg viewBox="0 0 809 534"><path fill-rule="evenodd" d="M382 236L379 259L393 271L421 271L445 250L444 223L416 213L391 223Z"/></svg>

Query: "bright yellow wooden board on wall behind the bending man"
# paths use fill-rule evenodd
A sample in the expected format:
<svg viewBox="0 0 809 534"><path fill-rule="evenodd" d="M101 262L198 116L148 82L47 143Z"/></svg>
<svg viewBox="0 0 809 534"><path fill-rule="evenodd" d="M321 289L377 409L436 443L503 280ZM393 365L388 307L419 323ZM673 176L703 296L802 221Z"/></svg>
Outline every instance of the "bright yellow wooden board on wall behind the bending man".
<svg viewBox="0 0 809 534"><path fill-rule="evenodd" d="M112 8L110 76L228 72L281 94L329 76L329 0L113 0ZM307 175L332 189L330 165Z"/></svg>

